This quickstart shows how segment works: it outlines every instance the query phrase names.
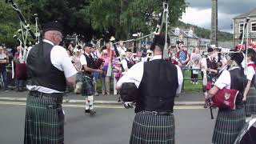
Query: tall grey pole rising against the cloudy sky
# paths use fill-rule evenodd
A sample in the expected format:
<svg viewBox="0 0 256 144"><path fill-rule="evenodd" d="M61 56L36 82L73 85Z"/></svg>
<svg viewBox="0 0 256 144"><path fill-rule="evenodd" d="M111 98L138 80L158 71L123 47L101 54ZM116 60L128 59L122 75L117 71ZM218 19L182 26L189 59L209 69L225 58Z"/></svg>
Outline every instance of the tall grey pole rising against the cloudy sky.
<svg viewBox="0 0 256 144"><path fill-rule="evenodd" d="M211 0L210 44L218 47L218 0Z"/></svg>

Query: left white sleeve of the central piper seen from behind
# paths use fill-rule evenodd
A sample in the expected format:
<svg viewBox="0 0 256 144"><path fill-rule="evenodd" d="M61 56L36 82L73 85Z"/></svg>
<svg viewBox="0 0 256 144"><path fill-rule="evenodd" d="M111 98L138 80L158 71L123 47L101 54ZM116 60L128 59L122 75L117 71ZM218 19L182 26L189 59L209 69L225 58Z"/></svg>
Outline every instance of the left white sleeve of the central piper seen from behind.
<svg viewBox="0 0 256 144"><path fill-rule="evenodd" d="M144 72L143 69L144 69L144 62L138 62L137 64L132 66L130 70L128 70L126 74L122 76L122 78L118 80L117 86L121 87L122 83L124 82L132 82L138 87L142 82L142 77Z"/></svg>

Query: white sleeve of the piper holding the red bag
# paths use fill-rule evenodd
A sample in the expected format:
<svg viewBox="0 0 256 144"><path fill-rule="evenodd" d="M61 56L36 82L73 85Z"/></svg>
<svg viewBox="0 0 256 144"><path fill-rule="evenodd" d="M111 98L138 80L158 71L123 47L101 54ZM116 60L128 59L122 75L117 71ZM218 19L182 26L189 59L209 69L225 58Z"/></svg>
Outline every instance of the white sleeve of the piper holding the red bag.
<svg viewBox="0 0 256 144"><path fill-rule="evenodd" d="M219 76L217 81L214 83L214 86L217 86L219 89L223 89L224 87L230 87L231 78L230 72L228 70L224 70L222 74Z"/></svg>

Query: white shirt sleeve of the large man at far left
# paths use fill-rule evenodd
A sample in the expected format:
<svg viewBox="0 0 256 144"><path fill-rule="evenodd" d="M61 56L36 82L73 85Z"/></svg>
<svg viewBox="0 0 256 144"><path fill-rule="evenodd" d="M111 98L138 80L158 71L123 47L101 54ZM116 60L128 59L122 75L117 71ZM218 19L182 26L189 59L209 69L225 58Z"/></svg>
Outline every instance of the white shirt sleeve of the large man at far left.
<svg viewBox="0 0 256 144"><path fill-rule="evenodd" d="M58 70L64 71L66 78L70 78L74 74L77 74L77 70L75 70L70 61L69 55L62 46L54 46L50 52L50 60Z"/></svg>

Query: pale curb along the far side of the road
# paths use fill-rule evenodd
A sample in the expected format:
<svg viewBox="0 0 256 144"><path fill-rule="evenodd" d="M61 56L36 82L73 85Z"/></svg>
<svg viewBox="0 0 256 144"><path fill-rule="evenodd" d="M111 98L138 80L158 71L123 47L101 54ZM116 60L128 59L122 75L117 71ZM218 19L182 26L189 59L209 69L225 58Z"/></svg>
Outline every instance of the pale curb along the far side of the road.
<svg viewBox="0 0 256 144"><path fill-rule="evenodd" d="M26 98L14 98L14 97L0 97L0 101L19 101L19 102L26 102ZM76 100L76 99L63 99L63 103L84 103L85 100ZM174 102L175 105L203 105L205 102ZM114 105L121 105L122 102L118 101L102 101L102 100L96 100L94 101L94 104L114 104Z"/></svg>

